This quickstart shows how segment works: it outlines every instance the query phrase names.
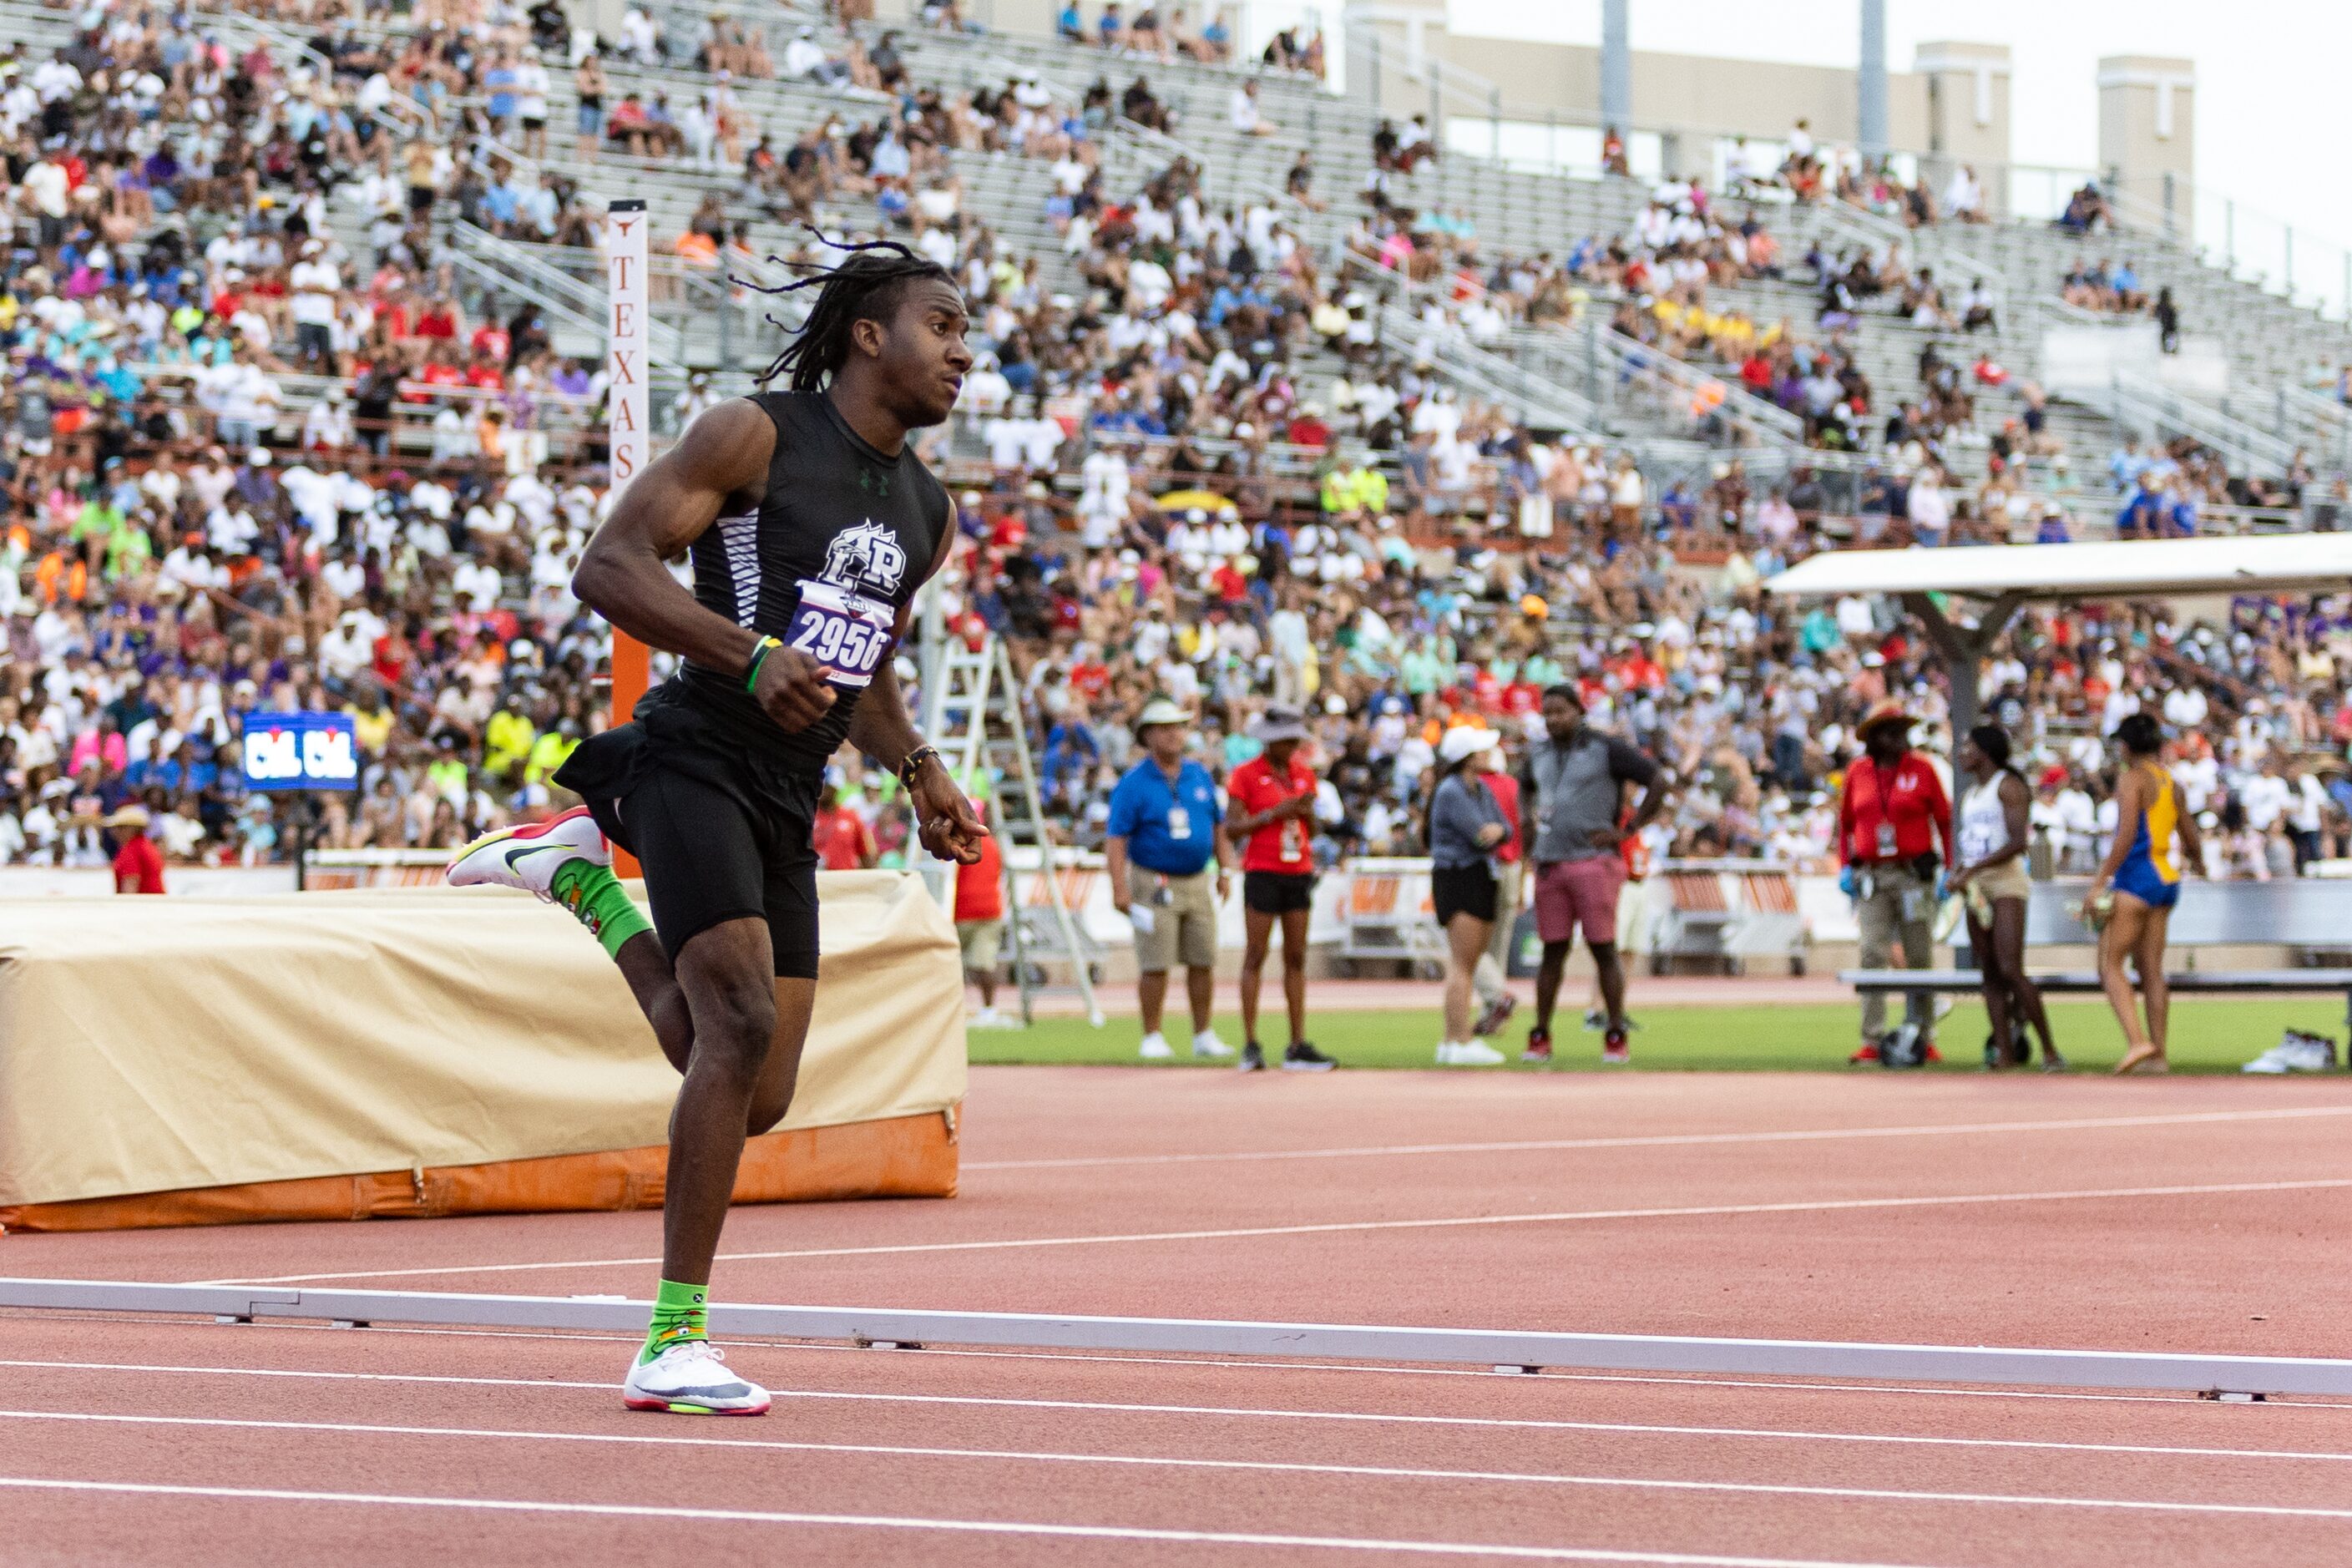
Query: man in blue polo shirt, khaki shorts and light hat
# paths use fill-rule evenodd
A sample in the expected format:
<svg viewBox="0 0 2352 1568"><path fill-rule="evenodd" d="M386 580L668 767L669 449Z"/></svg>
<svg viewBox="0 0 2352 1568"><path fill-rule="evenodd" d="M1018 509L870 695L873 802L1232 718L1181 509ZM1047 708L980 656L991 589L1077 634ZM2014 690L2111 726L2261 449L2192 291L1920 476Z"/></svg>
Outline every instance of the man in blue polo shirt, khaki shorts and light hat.
<svg viewBox="0 0 2352 1568"><path fill-rule="evenodd" d="M1216 905L1230 889L1223 809L1209 769L1185 757L1192 717L1155 696L1136 717L1145 757L1110 792L1110 903L1136 929L1143 1060L1176 1056L1160 1032L1169 969L1181 959L1192 1001L1192 1056L1232 1056L1209 1027L1216 1001ZM1214 865L1211 865L1214 863ZM1214 875L1211 875L1214 872Z"/></svg>

